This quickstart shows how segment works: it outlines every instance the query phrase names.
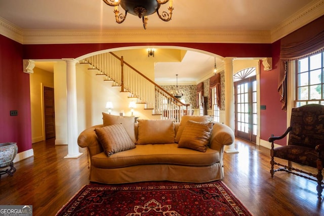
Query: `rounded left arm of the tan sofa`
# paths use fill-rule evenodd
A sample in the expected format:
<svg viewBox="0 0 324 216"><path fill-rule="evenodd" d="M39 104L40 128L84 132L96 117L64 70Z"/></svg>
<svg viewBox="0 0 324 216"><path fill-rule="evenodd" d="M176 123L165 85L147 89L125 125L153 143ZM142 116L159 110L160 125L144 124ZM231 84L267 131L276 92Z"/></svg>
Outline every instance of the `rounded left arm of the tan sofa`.
<svg viewBox="0 0 324 216"><path fill-rule="evenodd" d="M99 154L103 151L99 141L98 137L95 132L95 128L102 127L102 124L94 125L92 127L89 127L85 129L83 132L80 133L80 135L77 138L77 145L82 148L88 148L90 156Z"/></svg>

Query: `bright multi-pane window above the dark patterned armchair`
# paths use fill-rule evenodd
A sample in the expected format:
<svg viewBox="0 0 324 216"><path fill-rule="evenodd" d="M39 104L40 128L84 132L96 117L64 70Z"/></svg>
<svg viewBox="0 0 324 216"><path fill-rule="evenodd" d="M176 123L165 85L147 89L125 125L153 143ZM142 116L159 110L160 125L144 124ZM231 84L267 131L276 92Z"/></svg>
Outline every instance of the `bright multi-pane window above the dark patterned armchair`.
<svg viewBox="0 0 324 216"><path fill-rule="evenodd" d="M296 74L296 106L324 104L324 52L300 59Z"/></svg>

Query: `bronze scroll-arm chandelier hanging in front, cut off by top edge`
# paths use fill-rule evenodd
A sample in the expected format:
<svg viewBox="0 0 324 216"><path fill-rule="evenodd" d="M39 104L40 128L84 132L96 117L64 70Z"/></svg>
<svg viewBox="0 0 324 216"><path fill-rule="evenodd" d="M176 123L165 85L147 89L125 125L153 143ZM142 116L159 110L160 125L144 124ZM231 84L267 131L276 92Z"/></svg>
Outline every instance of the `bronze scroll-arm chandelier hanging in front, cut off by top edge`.
<svg viewBox="0 0 324 216"><path fill-rule="evenodd" d="M115 18L117 23L122 23L125 21L127 13L133 14L142 18L144 29L146 29L148 18L147 16L157 13L157 16L163 21L170 21L172 17L172 0L102 0L109 6L114 6L115 10ZM170 6L168 8L169 13L163 11L161 14L158 12L158 9L161 5L170 2ZM121 6L125 10L125 15L120 13L118 10L118 6Z"/></svg>

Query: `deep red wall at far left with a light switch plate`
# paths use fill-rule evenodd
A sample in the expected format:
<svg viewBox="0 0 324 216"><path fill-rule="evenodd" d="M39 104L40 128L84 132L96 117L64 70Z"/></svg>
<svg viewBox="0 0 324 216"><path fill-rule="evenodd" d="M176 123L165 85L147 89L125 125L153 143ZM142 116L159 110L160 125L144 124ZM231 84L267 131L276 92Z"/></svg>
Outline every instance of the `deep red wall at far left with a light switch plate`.
<svg viewBox="0 0 324 216"><path fill-rule="evenodd" d="M0 143L31 149L29 74L23 72L23 46L0 35ZM18 110L10 116L10 110Z"/></svg>

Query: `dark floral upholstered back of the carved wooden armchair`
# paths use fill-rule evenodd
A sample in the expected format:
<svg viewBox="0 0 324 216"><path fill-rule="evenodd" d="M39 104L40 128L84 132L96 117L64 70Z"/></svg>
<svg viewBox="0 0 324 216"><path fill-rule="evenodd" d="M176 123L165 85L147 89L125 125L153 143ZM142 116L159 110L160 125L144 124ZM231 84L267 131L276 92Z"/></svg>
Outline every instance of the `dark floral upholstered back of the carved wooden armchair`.
<svg viewBox="0 0 324 216"><path fill-rule="evenodd" d="M308 104L292 109L288 145L314 148L324 144L324 106Z"/></svg>

